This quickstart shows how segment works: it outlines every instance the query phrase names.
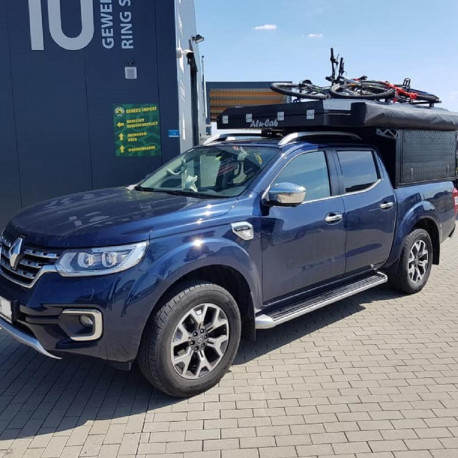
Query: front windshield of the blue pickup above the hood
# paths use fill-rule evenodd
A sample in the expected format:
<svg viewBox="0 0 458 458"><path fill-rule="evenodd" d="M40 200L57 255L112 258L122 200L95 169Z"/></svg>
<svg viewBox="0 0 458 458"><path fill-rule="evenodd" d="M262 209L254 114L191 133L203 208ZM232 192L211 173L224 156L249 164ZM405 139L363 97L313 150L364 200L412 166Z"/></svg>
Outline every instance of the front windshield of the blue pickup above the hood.
<svg viewBox="0 0 458 458"><path fill-rule="evenodd" d="M276 148L236 145L191 149L162 166L138 188L196 197L235 197L277 153Z"/></svg>

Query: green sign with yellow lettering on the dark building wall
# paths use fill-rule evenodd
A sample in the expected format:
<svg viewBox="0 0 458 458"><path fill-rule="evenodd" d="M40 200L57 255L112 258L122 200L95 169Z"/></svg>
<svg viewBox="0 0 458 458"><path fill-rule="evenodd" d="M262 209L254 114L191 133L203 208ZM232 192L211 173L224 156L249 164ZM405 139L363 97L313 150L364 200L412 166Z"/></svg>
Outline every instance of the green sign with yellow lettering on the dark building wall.
<svg viewBox="0 0 458 458"><path fill-rule="evenodd" d="M161 155L157 105L113 105L116 156Z"/></svg>

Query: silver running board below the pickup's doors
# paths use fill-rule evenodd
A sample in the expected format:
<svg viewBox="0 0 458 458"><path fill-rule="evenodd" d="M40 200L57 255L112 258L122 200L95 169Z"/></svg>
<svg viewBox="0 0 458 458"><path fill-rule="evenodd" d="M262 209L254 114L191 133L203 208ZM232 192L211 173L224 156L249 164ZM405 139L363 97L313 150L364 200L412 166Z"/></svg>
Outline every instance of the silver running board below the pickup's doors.
<svg viewBox="0 0 458 458"><path fill-rule="evenodd" d="M382 285L387 281L388 277L385 274L376 272L353 283L339 286L332 291L309 297L303 302L276 307L272 311L256 316L256 329L274 328L279 324L286 323L294 318L313 312L346 297L361 293L367 289Z"/></svg>

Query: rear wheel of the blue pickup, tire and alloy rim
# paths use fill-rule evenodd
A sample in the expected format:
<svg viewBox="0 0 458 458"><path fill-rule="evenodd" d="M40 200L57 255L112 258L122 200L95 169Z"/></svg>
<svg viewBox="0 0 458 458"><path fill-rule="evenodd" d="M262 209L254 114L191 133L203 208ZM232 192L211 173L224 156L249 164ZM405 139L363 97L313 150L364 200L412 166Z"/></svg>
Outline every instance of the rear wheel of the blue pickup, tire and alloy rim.
<svg viewBox="0 0 458 458"><path fill-rule="evenodd" d="M416 229L404 241L396 271L388 275L390 285L403 293L418 293L428 281L432 264L431 237L424 229Z"/></svg>

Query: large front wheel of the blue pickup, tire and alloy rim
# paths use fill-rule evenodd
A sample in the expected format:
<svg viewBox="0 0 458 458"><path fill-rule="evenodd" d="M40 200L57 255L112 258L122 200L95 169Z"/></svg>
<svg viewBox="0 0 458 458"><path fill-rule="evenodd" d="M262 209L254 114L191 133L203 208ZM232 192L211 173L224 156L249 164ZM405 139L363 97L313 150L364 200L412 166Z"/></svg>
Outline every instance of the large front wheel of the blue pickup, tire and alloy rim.
<svg viewBox="0 0 458 458"><path fill-rule="evenodd" d="M191 397L216 385L234 361L240 311L229 292L212 283L183 284L169 297L146 325L137 363L154 387Z"/></svg>

